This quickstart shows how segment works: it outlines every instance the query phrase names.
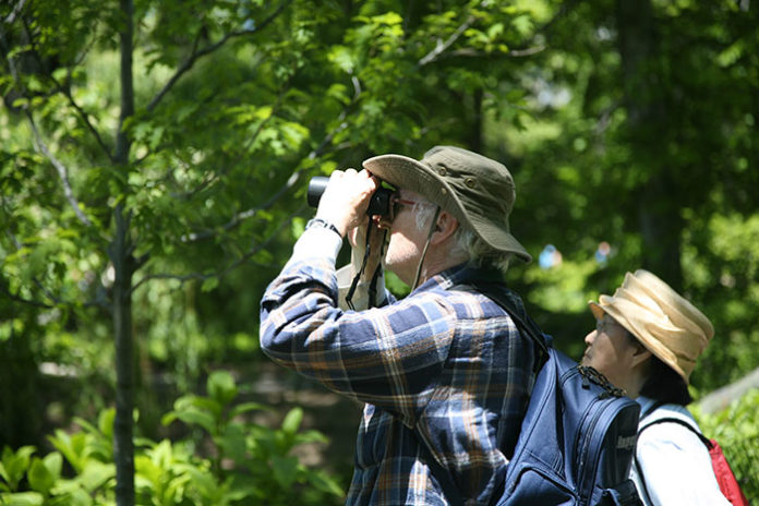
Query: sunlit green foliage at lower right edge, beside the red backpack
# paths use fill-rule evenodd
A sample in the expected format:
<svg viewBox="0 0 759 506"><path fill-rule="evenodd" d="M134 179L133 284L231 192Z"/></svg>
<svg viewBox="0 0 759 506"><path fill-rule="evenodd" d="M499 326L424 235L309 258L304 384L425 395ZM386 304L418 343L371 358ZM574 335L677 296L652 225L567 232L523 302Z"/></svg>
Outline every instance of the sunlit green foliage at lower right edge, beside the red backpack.
<svg viewBox="0 0 759 506"><path fill-rule="evenodd" d="M749 504L759 502L759 390L750 390L727 409L704 414L694 410L703 434L716 439Z"/></svg>

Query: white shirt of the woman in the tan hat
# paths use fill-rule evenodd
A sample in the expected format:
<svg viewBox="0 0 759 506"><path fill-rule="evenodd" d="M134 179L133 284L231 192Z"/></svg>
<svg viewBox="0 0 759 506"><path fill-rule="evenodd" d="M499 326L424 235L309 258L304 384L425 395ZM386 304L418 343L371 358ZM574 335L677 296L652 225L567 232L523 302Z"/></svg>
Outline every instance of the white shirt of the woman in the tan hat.
<svg viewBox="0 0 759 506"><path fill-rule="evenodd" d="M637 400L641 415L654 405L653 399ZM639 422L638 430L662 418L683 420L701 432L692 415L679 405L656 408ZM636 458L630 479L646 506L731 506L716 483L709 450L687 427L658 423L646 429L638 437Z"/></svg>

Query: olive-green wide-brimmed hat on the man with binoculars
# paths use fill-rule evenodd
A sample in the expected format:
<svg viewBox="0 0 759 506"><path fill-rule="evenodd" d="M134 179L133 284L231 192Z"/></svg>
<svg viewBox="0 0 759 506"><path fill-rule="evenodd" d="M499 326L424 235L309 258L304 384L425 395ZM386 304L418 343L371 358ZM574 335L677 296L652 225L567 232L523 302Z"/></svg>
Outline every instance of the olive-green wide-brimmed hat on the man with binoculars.
<svg viewBox="0 0 759 506"><path fill-rule="evenodd" d="M509 231L516 190L503 164L460 147L435 146L421 160L381 155L364 160L363 167L394 186L437 204L491 248L525 262L532 260Z"/></svg>

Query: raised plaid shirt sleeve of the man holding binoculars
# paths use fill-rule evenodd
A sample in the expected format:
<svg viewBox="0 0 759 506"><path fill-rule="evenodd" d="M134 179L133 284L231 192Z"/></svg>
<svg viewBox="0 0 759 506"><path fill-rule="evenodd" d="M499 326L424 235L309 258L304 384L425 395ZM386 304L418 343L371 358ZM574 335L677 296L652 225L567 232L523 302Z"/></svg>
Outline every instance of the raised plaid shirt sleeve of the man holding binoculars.
<svg viewBox="0 0 759 506"><path fill-rule="evenodd" d="M332 257L288 262L262 299L262 350L412 426L447 359L454 309L432 292L362 312L339 309L337 297Z"/></svg>

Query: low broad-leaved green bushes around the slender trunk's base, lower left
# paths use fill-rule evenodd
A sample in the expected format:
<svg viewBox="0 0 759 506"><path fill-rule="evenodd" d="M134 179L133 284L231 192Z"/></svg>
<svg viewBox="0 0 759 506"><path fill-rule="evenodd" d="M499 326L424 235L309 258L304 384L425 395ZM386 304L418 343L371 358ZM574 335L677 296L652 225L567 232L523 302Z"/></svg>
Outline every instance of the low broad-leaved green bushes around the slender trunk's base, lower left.
<svg viewBox="0 0 759 506"><path fill-rule="evenodd" d="M315 431L300 431L300 408L292 409L280 427L269 429L242 421L244 413L268 408L254 402L233 405L238 390L229 373L212 374L207 389L207 397L177 399L174 409L164 417L165 424L179 420L196 429L194 439L135 439L136 504L325 505L341 501L342 487L329 474L303 466L291 455L298 445L325 441ZM113 417L115 410L108 409L97 425L77 419L81 432L56 431L49 437L56 450L45 457L36 456L32 446L15 451L5 447L0 460L0 504L115 504ZM194 450L201 447L208 457Z"/></svg>

